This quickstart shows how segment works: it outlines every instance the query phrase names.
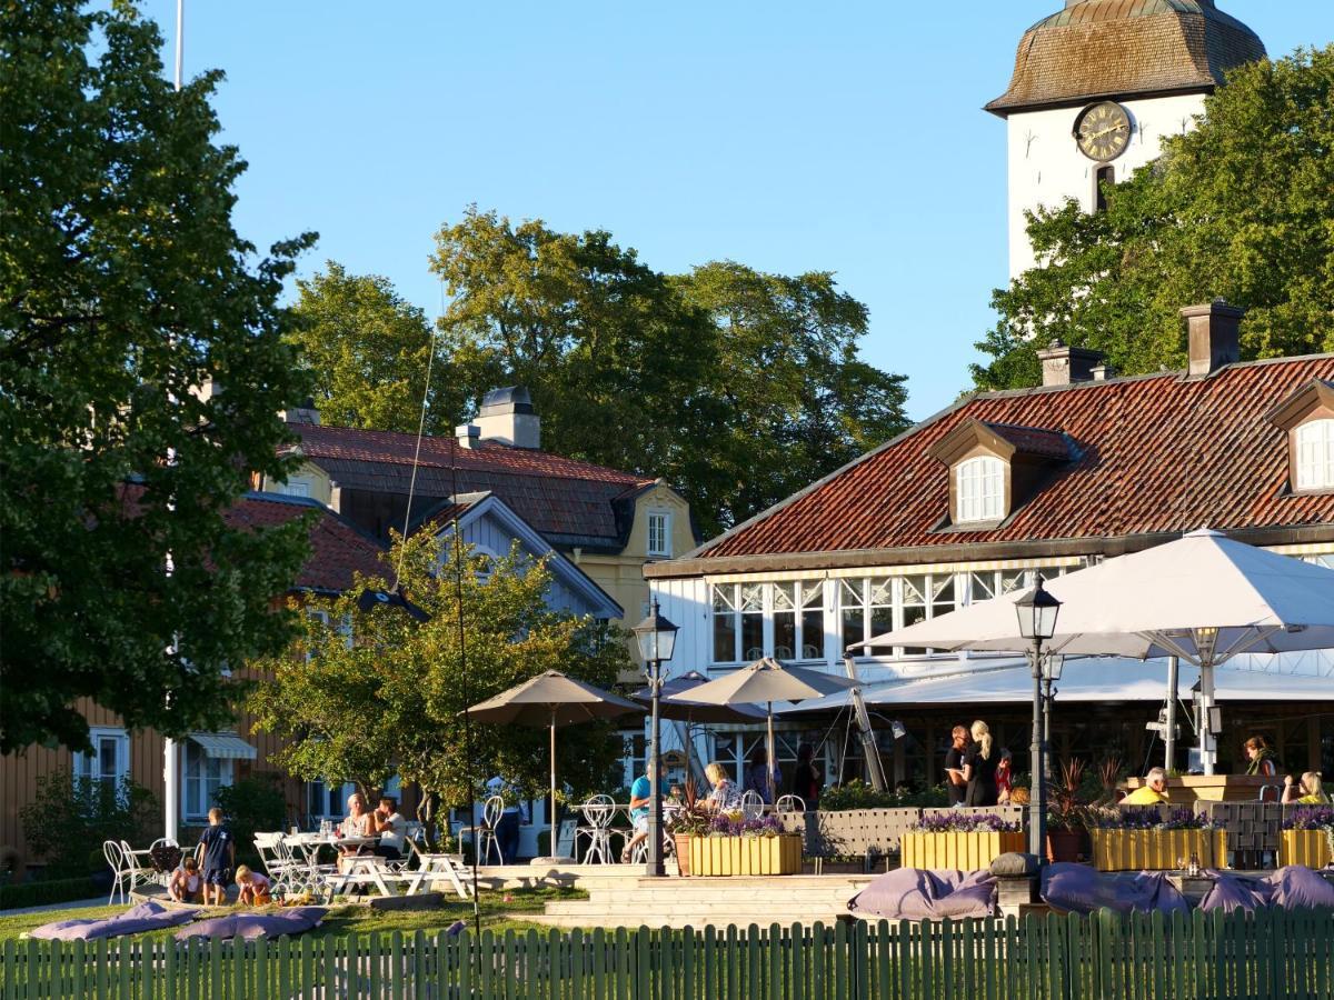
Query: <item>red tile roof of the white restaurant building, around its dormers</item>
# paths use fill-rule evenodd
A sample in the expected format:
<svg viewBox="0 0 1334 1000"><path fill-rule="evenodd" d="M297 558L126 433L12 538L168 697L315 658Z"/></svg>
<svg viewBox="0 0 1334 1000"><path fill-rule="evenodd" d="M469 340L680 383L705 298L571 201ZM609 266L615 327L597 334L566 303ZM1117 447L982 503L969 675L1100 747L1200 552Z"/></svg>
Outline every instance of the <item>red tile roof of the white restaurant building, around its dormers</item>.
<svg viewBox="0 0 1334 1000"><path fill-rule="evenodd" d="M1287 493L1287 441L1266 419L1313 379L1334 379L1334 355L974 396L682 561L1334 524L1334 495ZM947 471L927 452L970 417L1059 428L1079 459L1000 527L940 531Z"/></svg>

